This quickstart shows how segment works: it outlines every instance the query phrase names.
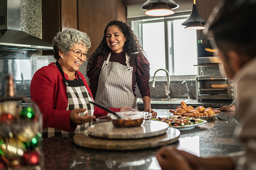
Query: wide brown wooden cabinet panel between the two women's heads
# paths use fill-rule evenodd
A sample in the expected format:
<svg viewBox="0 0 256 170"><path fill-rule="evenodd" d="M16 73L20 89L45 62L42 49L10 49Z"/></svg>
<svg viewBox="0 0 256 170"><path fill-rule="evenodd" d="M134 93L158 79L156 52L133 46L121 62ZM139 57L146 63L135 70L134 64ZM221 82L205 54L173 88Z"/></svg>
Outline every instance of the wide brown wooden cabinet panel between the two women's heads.
<svg viewBox="0 0 256 170"><path fill-rule="evenodd" d="M91 39L89 53L98 47L106 23L117 19L116 15L116 0L78 0L78 29L88 33Z"/></svg>

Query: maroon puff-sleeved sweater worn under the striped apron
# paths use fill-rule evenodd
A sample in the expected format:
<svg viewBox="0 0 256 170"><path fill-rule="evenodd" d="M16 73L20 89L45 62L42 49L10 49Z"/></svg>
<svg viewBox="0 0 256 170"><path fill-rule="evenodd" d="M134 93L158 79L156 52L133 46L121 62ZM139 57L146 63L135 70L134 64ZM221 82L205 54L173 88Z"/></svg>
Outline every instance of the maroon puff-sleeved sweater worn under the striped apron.
<svg viewBox="0 0 256 170"><path fill-rule="evenodd" d="M141 97L148 96L151 98L150 93L150 86L149 86L149 62L141 54L134 54L137 55L135 59L131 59L130 66L133 67L132 70L132 92L136 97L136 83L140 89ZM108 58L108 54L98 56L94 62L90 70L87 72L87 76L90 78L90 89L92 91L92 96L95 98L97 88L98 88L98 81L100 76L100 70L103 65L103 62L106 61ZM111 52L111 56L109 59L110 62L117 62L123 65L125 64L125 53L124 51L121 53L113 53Z"/></svg>

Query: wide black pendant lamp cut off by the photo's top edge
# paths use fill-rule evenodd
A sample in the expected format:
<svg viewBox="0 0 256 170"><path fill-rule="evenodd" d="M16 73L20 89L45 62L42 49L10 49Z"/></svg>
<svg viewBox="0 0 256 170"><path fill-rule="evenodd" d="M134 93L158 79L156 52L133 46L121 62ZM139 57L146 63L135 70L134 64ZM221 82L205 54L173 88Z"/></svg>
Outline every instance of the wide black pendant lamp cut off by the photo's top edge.
<svg viewBox="0 0 256 170"><path fill-rule="evenodd" d="M174 14L172 10L178 7L172 0L148 0L140 8L149 16L167 16Z"/></svg>

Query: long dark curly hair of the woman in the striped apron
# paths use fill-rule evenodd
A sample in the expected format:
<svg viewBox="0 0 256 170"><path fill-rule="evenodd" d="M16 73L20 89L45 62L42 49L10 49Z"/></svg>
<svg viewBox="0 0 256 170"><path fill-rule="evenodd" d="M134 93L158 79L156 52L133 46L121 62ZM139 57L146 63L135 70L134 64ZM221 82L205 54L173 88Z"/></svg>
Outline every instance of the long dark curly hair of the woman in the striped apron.
<svg viewBox="0 0 256 170"><path fill-rule="evenodd" d="M99 46L94 50L92 55L90 55L87 58L87 67L86 72L90 69L93 61L95 58L99 55L106 55L108 54L111 49L108 47L106 42L106 32L109 26L117 26L120 31L124 34L124 37L126 37L126 41L124 42L124 52L129 56L129 61L134 60L136 55L132 55L134 52L139 52L141 55L144 56L143 48L140 46L140 42L137 39L136 35L132 31L132 28L128 26L126 23L118 20L111 20L106 24L106 28L104 30L104 36L102 38L102 41L100 42Z"/></svg>

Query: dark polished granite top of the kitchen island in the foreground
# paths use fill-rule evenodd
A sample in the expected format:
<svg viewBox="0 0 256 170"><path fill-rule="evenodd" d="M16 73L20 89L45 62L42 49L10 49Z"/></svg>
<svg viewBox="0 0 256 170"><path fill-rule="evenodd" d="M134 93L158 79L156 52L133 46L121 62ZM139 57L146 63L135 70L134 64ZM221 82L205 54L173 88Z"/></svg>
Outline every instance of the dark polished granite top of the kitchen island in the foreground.
<svg viewBox="0 0 256 170"><path fill-rule="evenodd" d="M169 116L168 109L156 109L159 117ZM217 119L190 130L181 130L179 141L170 146L200 157L241 151L233 135L240 119L235 112L221 112ZM45 169L161 169L156 152L159 148L134 151L87 149L74 144L72 137L50 137L43 140Z"/></svg>

